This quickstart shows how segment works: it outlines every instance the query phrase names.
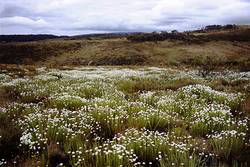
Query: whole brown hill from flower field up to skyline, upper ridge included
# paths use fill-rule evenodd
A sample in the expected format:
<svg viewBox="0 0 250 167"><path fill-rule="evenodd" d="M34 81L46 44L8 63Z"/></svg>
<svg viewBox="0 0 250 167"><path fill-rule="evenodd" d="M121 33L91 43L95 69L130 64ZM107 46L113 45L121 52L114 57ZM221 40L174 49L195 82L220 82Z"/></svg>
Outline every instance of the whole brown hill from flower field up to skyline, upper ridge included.
<svg viewBox="0 0 250 167"><path fill-rule="evenodd" d="M214 66L243 71L250 68L249 26L237 26L231 29L210 28L183 33L48 37L51 38L41 40L39 37L33 36L34 39L29 37L31 39L29 42L1 40L0 63L49 67L79 65L197 67L204 64L205 59L210 58Z"/></svg>

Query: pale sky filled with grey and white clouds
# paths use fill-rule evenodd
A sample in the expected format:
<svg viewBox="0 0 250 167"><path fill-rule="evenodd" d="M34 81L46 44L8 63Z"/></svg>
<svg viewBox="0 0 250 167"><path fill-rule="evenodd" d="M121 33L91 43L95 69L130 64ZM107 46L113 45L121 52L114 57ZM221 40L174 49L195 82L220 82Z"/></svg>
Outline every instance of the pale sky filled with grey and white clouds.
<svg viewBox="0 0 250 167"><path fill-rule="evenodd" d="M0 0L0 34L79 35L250 24L250 0Z"/></svg>

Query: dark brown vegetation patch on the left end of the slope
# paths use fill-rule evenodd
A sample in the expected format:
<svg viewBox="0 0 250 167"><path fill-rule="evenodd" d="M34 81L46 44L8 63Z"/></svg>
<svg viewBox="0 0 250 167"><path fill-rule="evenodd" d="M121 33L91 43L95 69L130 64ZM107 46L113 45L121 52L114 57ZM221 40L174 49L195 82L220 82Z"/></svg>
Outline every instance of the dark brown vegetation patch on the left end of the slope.
<svg viewBox="0 0 250 167"><path fill-rule="evenodd" d="M57 56L65 51L79 49L77 43L63 43L58 41L33 43L6 43L0 44L0 63L4 64L32 64L34 61L44 60L48 56Z"/></svg>

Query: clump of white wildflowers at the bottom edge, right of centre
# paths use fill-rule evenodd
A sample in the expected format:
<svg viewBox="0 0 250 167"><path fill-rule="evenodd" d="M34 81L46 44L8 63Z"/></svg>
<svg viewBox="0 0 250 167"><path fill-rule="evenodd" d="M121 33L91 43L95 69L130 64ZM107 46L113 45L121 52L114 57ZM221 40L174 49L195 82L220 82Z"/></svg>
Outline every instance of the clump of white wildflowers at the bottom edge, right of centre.
<svg viewBox="0 0 250 167"><path fill-rule="evenodd" d="M96 160L96 166L160 166L166 159L176 166L188 165L191 161L202 165L193 155L194 145L183 141L184 138L175 137L173 140L173 136L167 133L127 129L124 134L117 134L112 140L87 152Z"/></svg>

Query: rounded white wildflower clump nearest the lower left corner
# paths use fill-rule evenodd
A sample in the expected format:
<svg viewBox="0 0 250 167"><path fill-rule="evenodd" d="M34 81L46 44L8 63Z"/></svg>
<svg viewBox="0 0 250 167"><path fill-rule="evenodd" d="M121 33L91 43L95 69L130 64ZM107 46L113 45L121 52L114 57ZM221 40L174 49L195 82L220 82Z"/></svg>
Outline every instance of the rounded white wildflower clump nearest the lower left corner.
<svg viewBox="0 0 250 167"><path fill-rule="evenodd" d="M63 145L79 137L83 141L91 140L99 129L86 112L67 109L38 110L20 119L18 124L24 130L20 138L21 145L28 145L36 152L47 149L50 142Z"/></svg>

